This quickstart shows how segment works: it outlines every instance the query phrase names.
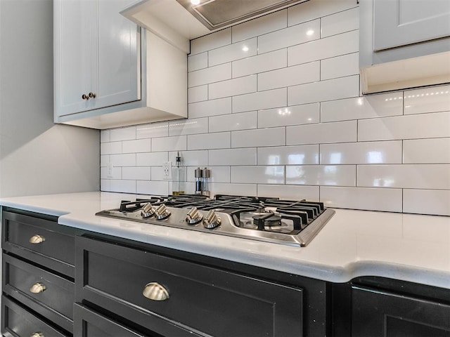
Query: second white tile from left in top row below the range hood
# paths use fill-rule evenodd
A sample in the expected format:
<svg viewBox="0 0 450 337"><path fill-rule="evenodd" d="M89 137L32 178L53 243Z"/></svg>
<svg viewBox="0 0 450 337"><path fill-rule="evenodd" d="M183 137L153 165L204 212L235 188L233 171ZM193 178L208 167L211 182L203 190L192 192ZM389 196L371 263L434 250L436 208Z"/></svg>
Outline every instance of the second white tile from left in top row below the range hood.
<svg viewBox="0 0 450 337"><path fill-rule="evenodd" d="M278 29L287 27L288 11L286 9L278 11L271 15L264 15L241 25L231 27L231 37L233 43L257 37L266 33L274 32Z"/></svg>

